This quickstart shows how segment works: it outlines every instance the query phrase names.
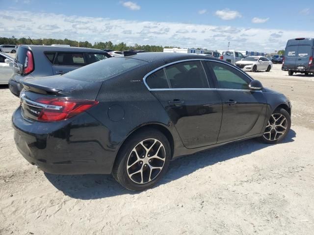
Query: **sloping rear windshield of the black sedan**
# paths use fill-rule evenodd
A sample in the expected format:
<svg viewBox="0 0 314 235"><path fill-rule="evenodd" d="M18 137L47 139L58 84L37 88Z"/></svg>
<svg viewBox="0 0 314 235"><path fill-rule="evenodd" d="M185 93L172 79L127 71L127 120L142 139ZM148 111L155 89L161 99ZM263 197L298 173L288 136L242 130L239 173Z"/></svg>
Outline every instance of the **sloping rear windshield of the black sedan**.
<svg viewBox="0 0 314 235"><path fill-rule="evenodd" d="M99 82L108 80L111 77L130 71L147 63L148 62L146 61L132 58L111 57L109 59L68 72L64 76L80 81Z"/></svg>

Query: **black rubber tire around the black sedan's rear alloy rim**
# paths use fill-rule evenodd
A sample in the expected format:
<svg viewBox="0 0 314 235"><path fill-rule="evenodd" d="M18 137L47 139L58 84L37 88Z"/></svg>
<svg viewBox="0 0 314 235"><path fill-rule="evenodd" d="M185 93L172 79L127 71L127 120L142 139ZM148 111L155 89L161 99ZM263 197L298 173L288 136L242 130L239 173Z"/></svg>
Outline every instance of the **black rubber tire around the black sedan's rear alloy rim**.
<svg viewBox="0 0 314 235"><path fill-rule="evenodd" d="M161 151L164 154L164 158L163 158L164 163L163 163L162 169L159 172L155 171L157 173L157 175L155 176L155 178L153 178L153 180L151 180L149 178L150 177L149 176L148 178L151 181L148 181L147 183L143 183L143 184L136 183L136 182L134 182L134 178L131 179L131 177L136 176L136 174L134 176L130 177L129 176L129 169L127 169L129 157L131 159L131 156L132 156L131 154L134 153L134 151L132 151L132 150L135 147L139 146L139 143L141 141L150 140L150 139L155 139L155 140L159 141L160 143L162 143L162 145L164 147L164 151L163 150L161 150ZM138 155L140 156L141 154L138 154ZM146 154L145 158L147 156L149 156L148 153ZM140 158L141 158L141 156L140 156ZM167 172L168 166L169 166L170 158L171 158L171 149L170 149L170 144L169 144L168 139L161 132L157 131L156 129L153 129L153 128L145 129L143 131L139 131L139 132L135 133L134 135L131 135L123 143L121 149L119 150L116 162L113 166L112 176L116 179L116 181L118 181L123 187L125 187L127 189L130 189L132 191L145 190L147 188L153 187L165 175L165 173ZM160 161L160 160L158 160L158 161ZM140 164L140 162L142 162L142 163ZM149 166L150 164L148 164L148 163L144 164L145 162L143 163L143 161L140 161L140 162L135 163L135 164L134 163L131 164L132 167L134 165L135 172L137 171L137 169L143 169L143 172L147 172L148 170L150 170L150 172L153 172L153 170ZM144 167L144 165L146 165L146 167ZM130 169L132 167L130 167ZM142 177L142 181L143 181L144 173L143 174L139 173L139 174ZM139 176L139 175L137 175L137 176ZM147 173L146 173L146 176L147 176Z"/></svg>

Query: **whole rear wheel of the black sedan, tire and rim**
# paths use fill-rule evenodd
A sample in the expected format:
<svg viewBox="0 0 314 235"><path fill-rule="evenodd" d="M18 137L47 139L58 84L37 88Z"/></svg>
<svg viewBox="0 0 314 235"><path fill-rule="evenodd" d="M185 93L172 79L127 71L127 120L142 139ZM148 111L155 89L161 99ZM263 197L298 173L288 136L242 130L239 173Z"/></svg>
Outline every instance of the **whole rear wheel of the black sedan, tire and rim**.
<svg viewBox="0 0 314 235"><path fill-rule="evenodd" d="M123 144L112 175L125 188L145 190L164 176L170 156L167 138L155 129L147 129L132 135Z"/></svg>

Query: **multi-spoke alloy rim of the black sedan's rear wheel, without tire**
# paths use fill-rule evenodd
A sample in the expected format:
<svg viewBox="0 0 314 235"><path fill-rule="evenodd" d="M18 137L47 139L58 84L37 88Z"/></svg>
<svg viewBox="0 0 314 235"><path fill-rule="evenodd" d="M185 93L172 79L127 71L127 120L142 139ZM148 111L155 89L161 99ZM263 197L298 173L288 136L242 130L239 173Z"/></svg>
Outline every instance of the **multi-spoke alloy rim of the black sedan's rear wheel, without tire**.
<svg viewBox="0 0 314 235"><path fill-rule="evenodd" d="M162 171L165 160L165 148L160 141L156 139L140 141L128 157L128 176L134 183L149 183Z"/></svg>

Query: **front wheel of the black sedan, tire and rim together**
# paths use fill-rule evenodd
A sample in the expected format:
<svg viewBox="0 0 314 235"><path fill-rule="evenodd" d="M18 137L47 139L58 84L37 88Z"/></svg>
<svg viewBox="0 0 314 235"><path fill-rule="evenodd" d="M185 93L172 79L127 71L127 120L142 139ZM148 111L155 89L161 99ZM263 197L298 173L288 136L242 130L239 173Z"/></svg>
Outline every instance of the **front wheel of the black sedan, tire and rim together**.
<svg viewBox="0 0 314 235"><path fill-rule="evenodd" d="M270 116L264 134L260 140L264 143L278 143L288 134L291 127L291 118L287 110L276 109Z"/></svg>

